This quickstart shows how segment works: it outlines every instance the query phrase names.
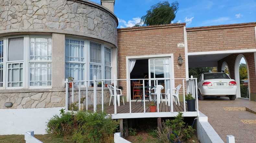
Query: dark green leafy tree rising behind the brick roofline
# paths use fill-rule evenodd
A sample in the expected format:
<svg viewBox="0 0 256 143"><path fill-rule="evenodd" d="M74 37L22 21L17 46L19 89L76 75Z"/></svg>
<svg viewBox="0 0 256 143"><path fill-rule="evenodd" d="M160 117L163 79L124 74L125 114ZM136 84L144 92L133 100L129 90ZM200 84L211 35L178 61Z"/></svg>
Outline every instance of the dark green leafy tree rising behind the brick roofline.
<svg viewBox="0 0 256 143"><path fill-rule="evenodd" d="M150 10L148 10L146 15L141 17L141 23L143 26L148 25L160 25L160 24L170 24L179 9L179 3L177 1L171 3L168 1L159 2L152 5Z"/></svg>

